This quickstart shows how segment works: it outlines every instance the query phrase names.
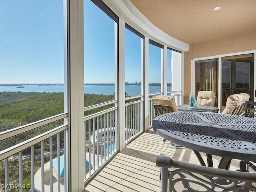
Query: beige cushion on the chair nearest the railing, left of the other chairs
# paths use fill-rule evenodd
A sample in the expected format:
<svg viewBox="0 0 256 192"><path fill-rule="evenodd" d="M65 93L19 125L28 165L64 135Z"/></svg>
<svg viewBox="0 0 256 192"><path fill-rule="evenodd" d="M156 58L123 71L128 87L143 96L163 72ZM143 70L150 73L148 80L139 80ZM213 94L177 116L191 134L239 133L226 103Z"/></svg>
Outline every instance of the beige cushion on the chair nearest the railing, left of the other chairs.
<svg viewBox="0 0 256 192"><path fill-rule="evenodd" d="M173 96L158 95L152 98L153 105L171 106L174 112L178 112Z"/></svg>

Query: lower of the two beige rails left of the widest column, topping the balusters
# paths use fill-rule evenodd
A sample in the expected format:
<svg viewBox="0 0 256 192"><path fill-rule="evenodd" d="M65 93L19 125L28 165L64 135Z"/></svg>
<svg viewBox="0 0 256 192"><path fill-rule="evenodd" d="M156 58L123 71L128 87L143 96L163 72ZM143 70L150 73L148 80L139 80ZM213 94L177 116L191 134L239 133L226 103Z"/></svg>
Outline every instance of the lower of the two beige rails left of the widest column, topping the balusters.
<svg viewBox="0 0 256 192"><path fill-rule="evenodd" d="M12 147L9 147L5 150L0 151L0 161L22 151L25 150L26 148L29 148L47 138L50 138L51 136L54 136L55 134L62 132L68 128L67 124L63 124L61 126L58 126L52 130L49 130L47 132L44 132L38 136L35 136L33 138L30 138L24 142L20 142L19 144L16 144Z"/></svg>

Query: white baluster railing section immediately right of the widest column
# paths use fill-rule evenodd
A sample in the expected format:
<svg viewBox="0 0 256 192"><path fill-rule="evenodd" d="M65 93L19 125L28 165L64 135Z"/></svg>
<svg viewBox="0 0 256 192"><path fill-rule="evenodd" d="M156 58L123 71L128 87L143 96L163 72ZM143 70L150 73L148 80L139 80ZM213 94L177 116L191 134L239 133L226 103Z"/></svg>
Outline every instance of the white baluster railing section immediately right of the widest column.
<svg viewBox="0 0 256 192"><path fill-rule="evenodd" d="M86 181L117 152L117 107L84 117L84 129Z"/></svg>

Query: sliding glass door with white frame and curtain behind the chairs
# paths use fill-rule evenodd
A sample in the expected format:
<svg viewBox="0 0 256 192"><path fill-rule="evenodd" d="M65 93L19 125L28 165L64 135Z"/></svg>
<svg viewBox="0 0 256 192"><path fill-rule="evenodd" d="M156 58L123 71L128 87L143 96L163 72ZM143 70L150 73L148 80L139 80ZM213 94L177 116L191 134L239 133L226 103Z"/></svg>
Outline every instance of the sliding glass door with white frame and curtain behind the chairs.
<svg viewBox="0 0 256 192"><path fill-rule="evenodd" d="M226 106L227 98L232 94L247 93L250 100L254 101L254 60L254 53L194 60L196 95L201 90L216 92L215 105L221 109Z"/></svg>

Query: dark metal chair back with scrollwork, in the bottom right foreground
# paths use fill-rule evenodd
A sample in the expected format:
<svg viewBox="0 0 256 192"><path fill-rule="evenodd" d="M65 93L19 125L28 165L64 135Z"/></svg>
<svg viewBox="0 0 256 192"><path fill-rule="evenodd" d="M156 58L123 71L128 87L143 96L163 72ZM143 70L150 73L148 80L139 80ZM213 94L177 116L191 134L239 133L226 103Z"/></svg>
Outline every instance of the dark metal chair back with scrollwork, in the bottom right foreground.
<svg viewBox="0 0 256 192"><path fill-rule="evenodd" d="M156 166L160 167L161 192L256 191L256 173L196 165L163 154L156 157Z"/></svg>

